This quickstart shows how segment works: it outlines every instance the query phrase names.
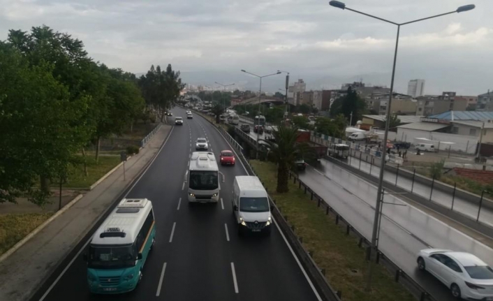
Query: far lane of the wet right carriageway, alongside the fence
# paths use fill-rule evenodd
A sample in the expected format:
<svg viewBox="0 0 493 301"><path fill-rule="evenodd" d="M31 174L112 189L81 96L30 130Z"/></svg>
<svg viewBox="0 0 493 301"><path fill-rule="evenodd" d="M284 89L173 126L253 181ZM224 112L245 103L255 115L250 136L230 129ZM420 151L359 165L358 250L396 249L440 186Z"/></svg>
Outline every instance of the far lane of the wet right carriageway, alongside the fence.
<svg viewBox="0 0 493 301"><path fill-rule="evenodd" d="M354 193L360 200L365 201L372 207L375 206L376 186L373 184L369 184L369 182L329 161L323 160L317 170L320 170L326 177L329 177L332 181ZM321 175L318 176L322 177ZM390 216L390 219L410 233L413 233L416 237L419 237L425 244L436 248L469 252L483 258L490 265L493 264L493 249L487 247L485 244L473 240L473 238L459 230L425 214L399 199L398 196L387 194L384 196L384 200L385 202L406 205L404 207L406 208L405 210L402 210L402 206L384 205L383 214Z"/></svg>

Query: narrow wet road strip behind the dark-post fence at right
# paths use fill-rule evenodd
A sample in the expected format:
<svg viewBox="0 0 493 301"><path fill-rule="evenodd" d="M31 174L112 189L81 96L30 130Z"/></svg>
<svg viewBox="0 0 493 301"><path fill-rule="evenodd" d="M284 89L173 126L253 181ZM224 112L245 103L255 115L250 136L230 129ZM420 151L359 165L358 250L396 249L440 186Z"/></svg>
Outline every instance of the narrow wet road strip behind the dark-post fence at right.
<svg viewBox="0 0 493 301"><path fill-rule="evenodd" d="M351 157L351 160L345 161L345 163L351 163L351 166L355 168L361 168L361 170L365 170L365 172L369 173L371 171L371 175L378 177L378 173L380 172L380 168L378 166L371 166L370 163L365 162L365 154L362 155L361 167L360 167L360 159ZM392 184L395 184L395 172L390 172L385 170L384 179ZM406 177L398 177L397 178L397 186L401 186L408 191L411 191L412 180L407 179ZM431 186L427 186L425 184L420 184L418 182L414 183L413 193L418 194L424 198L429 198L430 191L432 190ZM445 193L440 191L439 189L434 189L432 193L432 201L435 203L439 203L444 207L450 208L452 206L452 195L449 193ZM478 217L478 205L468 202L463 198L459 198L455 196L454 200L454 211L465 214L466 216L471 217L471 219L475 219ZM493 226L493 212L488 208L481 208L479 220L482 223Z"/></svg>

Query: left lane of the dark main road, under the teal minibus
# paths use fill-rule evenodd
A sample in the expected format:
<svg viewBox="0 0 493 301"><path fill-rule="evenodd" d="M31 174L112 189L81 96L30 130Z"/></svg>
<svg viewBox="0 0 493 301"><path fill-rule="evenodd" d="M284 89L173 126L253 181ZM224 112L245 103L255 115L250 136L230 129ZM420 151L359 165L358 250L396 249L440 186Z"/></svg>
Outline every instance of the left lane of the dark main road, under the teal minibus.
<svg viewBox="0 0 493 301"><path fill-rule="evenodd" d="M177 203L181 194L181 183L170 173L166 173L166 166L176 164L172 157L175 149L183 145L182 138L178 131L173 130L168 142L161 152L156 156L156 160L149 166L147 172L142 175L140 181L129 191L127 198L149 198L154 206L156 216L156 246L155 251L149 255L142 273L144 277L138 289L132 293L117 295L110 299L117 300L142 300L152 297L149 291L156 290L156 278L159 278L159 268L163 261L163 249L165 249L165 236L169 233L172 223L173 203ZM186 146L188 148L188 145ZM180 152L181 153L181 152ZM163 168L164 167L164 168ZM176 189L179 186L180 189ZM168 196L163 198L163 196ZM159 250L156 252L156 250ZM82 254L84 251L82 252ZM75 258L73 264L68 268L64 277L61 277L52 291L45 298L49 300L64 300L70 296L71 300L99 300L108 296L98 296L89 293L87 286L87 263L82 260L82 254Z"/></svg>

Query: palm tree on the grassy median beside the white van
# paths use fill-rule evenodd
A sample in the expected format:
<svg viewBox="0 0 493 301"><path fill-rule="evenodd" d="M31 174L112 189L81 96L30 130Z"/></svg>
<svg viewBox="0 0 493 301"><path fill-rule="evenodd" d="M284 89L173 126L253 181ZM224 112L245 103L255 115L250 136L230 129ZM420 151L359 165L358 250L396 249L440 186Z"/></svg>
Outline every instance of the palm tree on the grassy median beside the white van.
<svg viewBox="0 0 493 301"><path fill-rule="evenodd" d="M307 143L297 142L298 128L280 124L277 131L273 131L275 142L265 141L270 144L270 156L277 163L277 189L278 193L289 191L289 170L295 166L295 161L309 154Z"/></svg>

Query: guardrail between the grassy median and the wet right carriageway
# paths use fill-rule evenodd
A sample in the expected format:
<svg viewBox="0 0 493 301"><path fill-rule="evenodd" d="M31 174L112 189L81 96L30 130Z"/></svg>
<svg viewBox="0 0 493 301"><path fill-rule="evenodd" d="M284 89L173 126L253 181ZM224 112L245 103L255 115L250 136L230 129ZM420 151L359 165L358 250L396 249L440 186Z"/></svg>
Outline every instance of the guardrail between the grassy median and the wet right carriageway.
<svg viewBox="0 0 493 301"><path fill-rule="evenodd" d="M363 244L365 244L365 247L367 249L367 260L369 260L369 248L371 247L371 242L367 240L366 237L364 237L358 230L356 230L351 223L346 221L344 219L344 216L341 216L334 208L330 207L328 203L321 198L321 196L318 196L311 188L302 182L300 178L295 175L293 172L289 172L289 179L293 179L293 183L298 183L298 189L304 190L305 194L310 194L310 200L314 200L317 203L317 207L320 207L321 210L325 211L326 215L333 214L335 216L335 223L336 225L339 226L345 226L346 228L346 235L350 235L350 233L353 233L356 237L358 237L358 246L363 247ZM344 223L344 225L342 225ZM396 263L394 263L390 258L385 256L381 251L378 251L376 254L376 263L385 265L385 267L389 270L391 274L394 274L395 281L399 284L404 285L415 297L419 298L420 301L438 301L436 300L432 295L429 295L429 293L425 290L425 288L422 288L420 284L418 284L416 281L414 281L406 272L404 272Z"/></svg>

